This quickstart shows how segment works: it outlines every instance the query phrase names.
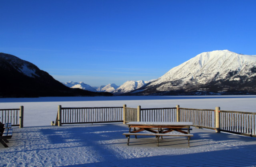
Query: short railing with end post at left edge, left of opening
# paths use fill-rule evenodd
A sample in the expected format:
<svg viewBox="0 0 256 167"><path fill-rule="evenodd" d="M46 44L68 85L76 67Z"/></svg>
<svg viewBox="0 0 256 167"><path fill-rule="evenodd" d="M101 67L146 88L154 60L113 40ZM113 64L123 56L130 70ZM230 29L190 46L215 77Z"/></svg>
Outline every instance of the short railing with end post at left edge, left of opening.
<svg viewBox="0 0 256 167"><path fill-rule="evenodd" d="M11 123L12 126L23 128L24 107L16 109L0 109L0 120L3 124Z"/></svg>

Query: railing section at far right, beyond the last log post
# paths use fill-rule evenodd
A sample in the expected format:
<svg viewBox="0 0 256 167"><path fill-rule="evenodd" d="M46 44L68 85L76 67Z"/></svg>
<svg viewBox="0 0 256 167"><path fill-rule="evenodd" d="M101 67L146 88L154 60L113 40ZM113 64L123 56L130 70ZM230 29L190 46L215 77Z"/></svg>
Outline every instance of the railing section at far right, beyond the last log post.
<svg viewBox="0 0 256 167"><path fill-rule="evenodd" d="M220 131L256 137L256 113L220 110Z"/></svg>

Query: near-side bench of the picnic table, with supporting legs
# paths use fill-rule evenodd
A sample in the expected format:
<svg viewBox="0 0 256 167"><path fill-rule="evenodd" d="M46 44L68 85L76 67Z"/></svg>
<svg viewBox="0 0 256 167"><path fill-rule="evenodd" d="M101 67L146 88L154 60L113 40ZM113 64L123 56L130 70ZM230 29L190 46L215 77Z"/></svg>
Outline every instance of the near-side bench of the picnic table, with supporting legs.
<svg viewBox="0 0 256 167"><path fill-rule="evenodd" d="M187 137L188 146L190 147L189 140L193 137L193 134L167 134L167 133L123 133L125 137L128 137L127 146L129 146L130 135L135 136L155 136L157 138L157 146L159 146L159 137L161 136L185 136Z"/></svg>

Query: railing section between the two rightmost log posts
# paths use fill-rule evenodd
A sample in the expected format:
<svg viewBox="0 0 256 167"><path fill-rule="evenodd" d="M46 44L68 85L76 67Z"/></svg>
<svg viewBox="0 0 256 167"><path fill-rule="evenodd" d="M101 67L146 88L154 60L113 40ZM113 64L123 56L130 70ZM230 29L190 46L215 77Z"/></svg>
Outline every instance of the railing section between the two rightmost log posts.
<svg viewBox="0 0 256 167"><path fill-rule="evenodd" d="M192 122L199 128L215 129L215 110L179 108L179 121Z"/></svg>

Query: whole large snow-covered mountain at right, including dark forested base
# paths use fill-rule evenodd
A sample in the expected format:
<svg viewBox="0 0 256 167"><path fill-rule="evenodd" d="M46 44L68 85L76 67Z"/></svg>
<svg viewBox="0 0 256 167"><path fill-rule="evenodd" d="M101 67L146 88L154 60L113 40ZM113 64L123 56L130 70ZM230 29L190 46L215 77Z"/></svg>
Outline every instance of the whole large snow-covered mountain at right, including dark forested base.
<svg viewBox="0 0 256 167"><path fill-rule="evenodd" d="M256 56L229 50L198 54L134 94L256 92ZM231 93L232 94L232 93Z"/></svg>

